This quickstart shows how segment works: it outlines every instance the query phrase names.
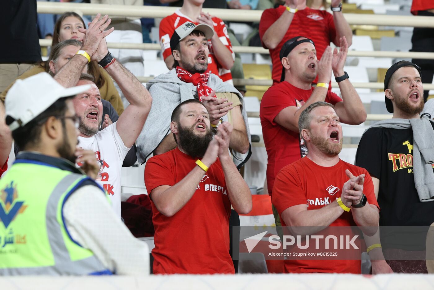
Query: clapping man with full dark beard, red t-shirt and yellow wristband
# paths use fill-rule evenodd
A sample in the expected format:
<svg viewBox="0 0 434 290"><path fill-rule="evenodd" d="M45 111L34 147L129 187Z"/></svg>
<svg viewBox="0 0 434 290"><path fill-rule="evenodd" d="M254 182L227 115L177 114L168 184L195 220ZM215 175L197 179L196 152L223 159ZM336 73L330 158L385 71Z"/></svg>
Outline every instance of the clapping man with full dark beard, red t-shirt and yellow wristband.
<svg viewBox="0 0 434 290"><path fill-rule="evenodd" d="M198 100L179 104L170 130L178 147L146 162L145 185L155 228L154 274L234 274L229 254L230 207L252 209L249 186L229 153L232 126L214 136Z"/></svg>

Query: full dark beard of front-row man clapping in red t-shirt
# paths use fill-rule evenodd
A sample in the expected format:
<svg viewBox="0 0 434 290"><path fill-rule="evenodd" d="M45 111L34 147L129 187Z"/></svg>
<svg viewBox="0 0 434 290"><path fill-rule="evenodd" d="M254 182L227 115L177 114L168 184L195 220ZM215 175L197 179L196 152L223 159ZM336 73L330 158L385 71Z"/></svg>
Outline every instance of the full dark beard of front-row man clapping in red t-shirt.
<svg viewBox="0 0 434 290"><path fill-rule="evenodd" d="M213 139L213 133L207 128L205 135L194 134L196 124L191 127L183 127L178 123L178 147L189 156L202 158L207 151L208 144Z"/></svg>

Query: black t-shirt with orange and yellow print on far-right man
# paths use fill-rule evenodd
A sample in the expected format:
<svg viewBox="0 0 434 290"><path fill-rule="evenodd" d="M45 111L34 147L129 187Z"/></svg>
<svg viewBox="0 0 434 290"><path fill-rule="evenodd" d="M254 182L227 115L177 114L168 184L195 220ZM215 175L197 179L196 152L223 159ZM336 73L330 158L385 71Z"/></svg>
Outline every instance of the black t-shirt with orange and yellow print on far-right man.
<svg viewBox="0 0 434 290"><path fill-rule="evenodd" d="M375 127L366 131L358 144L355 165L380 179L381 227L430 226L434 222L434 202L421 202L414 185L412 145L412 129ZM384 233L382 242L383 238ZM400 244L388 240L389 244Z"/></svg>

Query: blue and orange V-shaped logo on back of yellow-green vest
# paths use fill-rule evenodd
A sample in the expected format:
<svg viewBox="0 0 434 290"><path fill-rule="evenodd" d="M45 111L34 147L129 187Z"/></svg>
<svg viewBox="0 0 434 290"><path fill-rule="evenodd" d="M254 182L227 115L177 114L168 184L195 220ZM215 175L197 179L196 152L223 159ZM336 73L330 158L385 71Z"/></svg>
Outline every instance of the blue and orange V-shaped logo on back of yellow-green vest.
<svg viewBox="0 0 434 290"><path fill-rule="evenodd" d="M14 186L13 181L11 181L1 190L0 195L0 220L5 228L10 225L16 215L23 213L27 208L23 201L17 201L16 199L18 199L18 192L16 185Z"/></svg>

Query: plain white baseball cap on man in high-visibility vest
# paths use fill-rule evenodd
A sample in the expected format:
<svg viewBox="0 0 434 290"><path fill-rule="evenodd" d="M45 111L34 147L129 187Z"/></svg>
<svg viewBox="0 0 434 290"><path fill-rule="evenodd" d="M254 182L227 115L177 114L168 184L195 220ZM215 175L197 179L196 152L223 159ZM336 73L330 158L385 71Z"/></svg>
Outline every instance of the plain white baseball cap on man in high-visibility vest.
<svg viewBox="0 0 434 290"><path fill-rule="evenodd" d="M9 124L10 130L26 125L57 100L75 96L89 88L90 85L64 88L46 72L16 80L5 100L6 116L15 119Z"/></svg>

